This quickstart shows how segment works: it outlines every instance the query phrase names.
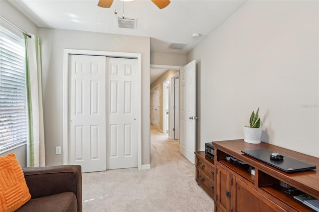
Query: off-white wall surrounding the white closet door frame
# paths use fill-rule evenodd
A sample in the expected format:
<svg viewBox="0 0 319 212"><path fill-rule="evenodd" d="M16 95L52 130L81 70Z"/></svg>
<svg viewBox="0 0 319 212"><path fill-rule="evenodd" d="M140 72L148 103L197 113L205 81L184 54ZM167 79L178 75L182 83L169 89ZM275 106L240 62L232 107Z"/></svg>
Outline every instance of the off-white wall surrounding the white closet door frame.
<svg viewBox="0 0 319 212"><path fill-rule="evenodd" d="M63 164L63 50L142 53L142 165L150 164L150 37L39 28L42 38L43 106L46 165ZM63 153L63 151L62 151Z"/></svg>

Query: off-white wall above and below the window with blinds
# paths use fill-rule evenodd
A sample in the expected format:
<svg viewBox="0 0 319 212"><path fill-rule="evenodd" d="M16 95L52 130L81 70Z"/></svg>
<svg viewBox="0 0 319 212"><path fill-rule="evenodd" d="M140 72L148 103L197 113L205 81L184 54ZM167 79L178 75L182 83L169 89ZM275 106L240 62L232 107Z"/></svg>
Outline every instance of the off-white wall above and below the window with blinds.
<svg viewBox="0 0 319 212"><path fill-rule="evenodd" d="M38 27L33 24L27 17L22 15L6 0L0 0L0 14L23 31L31 34L37 34ZM5 23L5 21L2 19L0 19L0 21L3 21ZM9 153L14 153L16 159L19 161L20 166L26 167L26 145L0 154L0 156L7 155Z"/></svg>

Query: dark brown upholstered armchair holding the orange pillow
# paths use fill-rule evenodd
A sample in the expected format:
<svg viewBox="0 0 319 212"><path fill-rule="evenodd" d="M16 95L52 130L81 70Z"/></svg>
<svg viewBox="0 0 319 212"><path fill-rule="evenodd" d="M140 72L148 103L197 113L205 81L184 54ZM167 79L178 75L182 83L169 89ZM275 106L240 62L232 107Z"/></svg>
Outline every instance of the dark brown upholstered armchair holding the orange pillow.
<svg viewBox="0 0 319 212"><path fill-rule="evenodd" d="M31 200L17 212L82 212L81 166L22 168Z"/></svg>

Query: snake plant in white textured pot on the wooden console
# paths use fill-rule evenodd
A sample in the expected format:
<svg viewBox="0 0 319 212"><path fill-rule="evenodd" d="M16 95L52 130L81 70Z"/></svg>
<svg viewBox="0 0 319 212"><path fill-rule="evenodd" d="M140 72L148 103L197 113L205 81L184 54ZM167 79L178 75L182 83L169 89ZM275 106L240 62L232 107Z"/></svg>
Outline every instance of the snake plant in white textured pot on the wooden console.
<svg viewBox="0 0 319 212"><path fill-rule="evenodd" d="M249 118L249 126L244 126L244 141L247 143L260 143L262 128L260 126L259 107L256 113L253 111Z"/></svg>

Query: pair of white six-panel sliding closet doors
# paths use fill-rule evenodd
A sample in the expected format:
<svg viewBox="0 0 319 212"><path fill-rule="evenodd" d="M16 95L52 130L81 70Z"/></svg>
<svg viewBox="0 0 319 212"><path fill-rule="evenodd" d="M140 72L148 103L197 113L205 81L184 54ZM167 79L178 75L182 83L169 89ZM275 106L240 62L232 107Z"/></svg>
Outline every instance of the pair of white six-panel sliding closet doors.
<svg viewBox="0 0 319 212"><path fill-rule="evenodd" d="M70 164L138 167L137 60L70 55L69 79Z"/></svg>

